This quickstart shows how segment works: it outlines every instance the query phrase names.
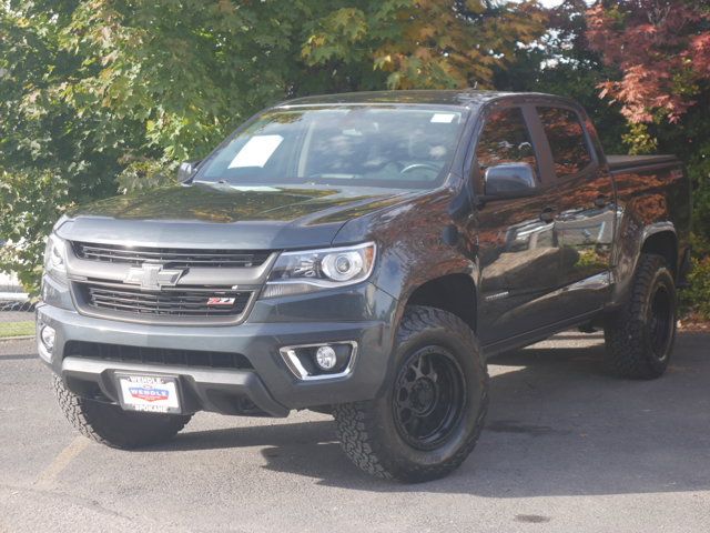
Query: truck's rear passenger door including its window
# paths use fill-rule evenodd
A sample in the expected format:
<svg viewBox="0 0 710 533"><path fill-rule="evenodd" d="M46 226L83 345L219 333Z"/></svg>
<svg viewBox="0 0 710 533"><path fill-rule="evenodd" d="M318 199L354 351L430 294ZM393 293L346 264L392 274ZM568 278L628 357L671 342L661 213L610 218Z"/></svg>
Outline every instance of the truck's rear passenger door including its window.
<svg viewBox="0 0 710 533"><path fill-rule="evenodd" d="M592 127L580 110L541 103L536 111L544 131L540 149L549 150L552 160L542 180L558 191L554 208L561 291L556 301L564 316L574 318L600 309L608 299L613 182L599 164Z"/></svg>

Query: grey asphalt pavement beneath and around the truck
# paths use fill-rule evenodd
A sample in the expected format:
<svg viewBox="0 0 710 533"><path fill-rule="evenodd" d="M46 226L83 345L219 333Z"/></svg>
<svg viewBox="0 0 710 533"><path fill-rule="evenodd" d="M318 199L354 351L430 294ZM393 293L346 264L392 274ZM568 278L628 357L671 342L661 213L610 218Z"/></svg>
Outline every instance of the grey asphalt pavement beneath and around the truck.
<svg viewBox="0 0 710 533"><path fill-rule="evenodd" d="M710 334L680 335L652 382L609 375L602 352L570 332L494 360L474 453L403 485L361 474L307 411L101 446L64 421L32 341L0 342L0 531L709 531Z"/></svg>

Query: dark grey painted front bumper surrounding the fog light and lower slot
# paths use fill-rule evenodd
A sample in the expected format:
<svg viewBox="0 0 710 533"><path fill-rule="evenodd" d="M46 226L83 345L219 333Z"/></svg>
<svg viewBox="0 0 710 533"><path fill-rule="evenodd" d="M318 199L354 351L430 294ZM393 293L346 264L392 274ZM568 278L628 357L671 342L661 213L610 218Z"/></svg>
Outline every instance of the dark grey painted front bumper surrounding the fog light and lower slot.
<svg viewBox="0 0 710 533"><path fill-rule="evenodd" d="M53 290L54 295L61 292L61 288ZM159 373L179 378L185 412L272 416L285 416L292 409L374 399L387 375L396 310L396 301L371 283L258 301L244 323L221 326L121 322L80 314L67 299L57 302L37 309L38 324L57 332L52 353L43 359L73 392L91 395L90 391L99 390L101 398L118 403L116 372ZM119 362L83 353L65 358L69 341L239 353L253 370ZM280 353L283 346L343 341L358 345L356 363L343 378L300 380Z"/></svg>

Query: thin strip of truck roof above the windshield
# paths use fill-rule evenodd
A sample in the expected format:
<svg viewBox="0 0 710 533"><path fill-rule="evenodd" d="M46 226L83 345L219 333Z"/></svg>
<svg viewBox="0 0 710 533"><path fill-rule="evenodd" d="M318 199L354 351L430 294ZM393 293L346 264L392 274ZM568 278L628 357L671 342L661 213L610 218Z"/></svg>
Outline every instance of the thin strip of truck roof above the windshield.
<svg viewBox="0 0 710 533"><path fill-rule="evenodd" d="M328 104L365 104L365 103L392 103L392 104L435 104L470 107L504 97L545 95L532 92L504 92L504 91L479 91L475 89L457 90L403 90L403 91L368 91L368 92L345 92L339 94L322 94L315 97L303 97L280 103L281 107L293 105L328 105Z"/></svg>

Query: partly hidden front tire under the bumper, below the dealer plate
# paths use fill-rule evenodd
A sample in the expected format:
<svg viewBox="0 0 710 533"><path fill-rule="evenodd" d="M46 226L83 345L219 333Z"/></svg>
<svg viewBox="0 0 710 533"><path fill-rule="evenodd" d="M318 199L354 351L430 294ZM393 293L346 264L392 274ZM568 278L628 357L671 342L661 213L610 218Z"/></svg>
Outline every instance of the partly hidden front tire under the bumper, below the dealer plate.
<svg viewBox="0 0 710 533"><path fill-rule="evenodd" d="M82 435L122 450L169 441L190 421L191 415L131 413L119 405L79 396L54 375L54 392L69 422Z"/></svg>

